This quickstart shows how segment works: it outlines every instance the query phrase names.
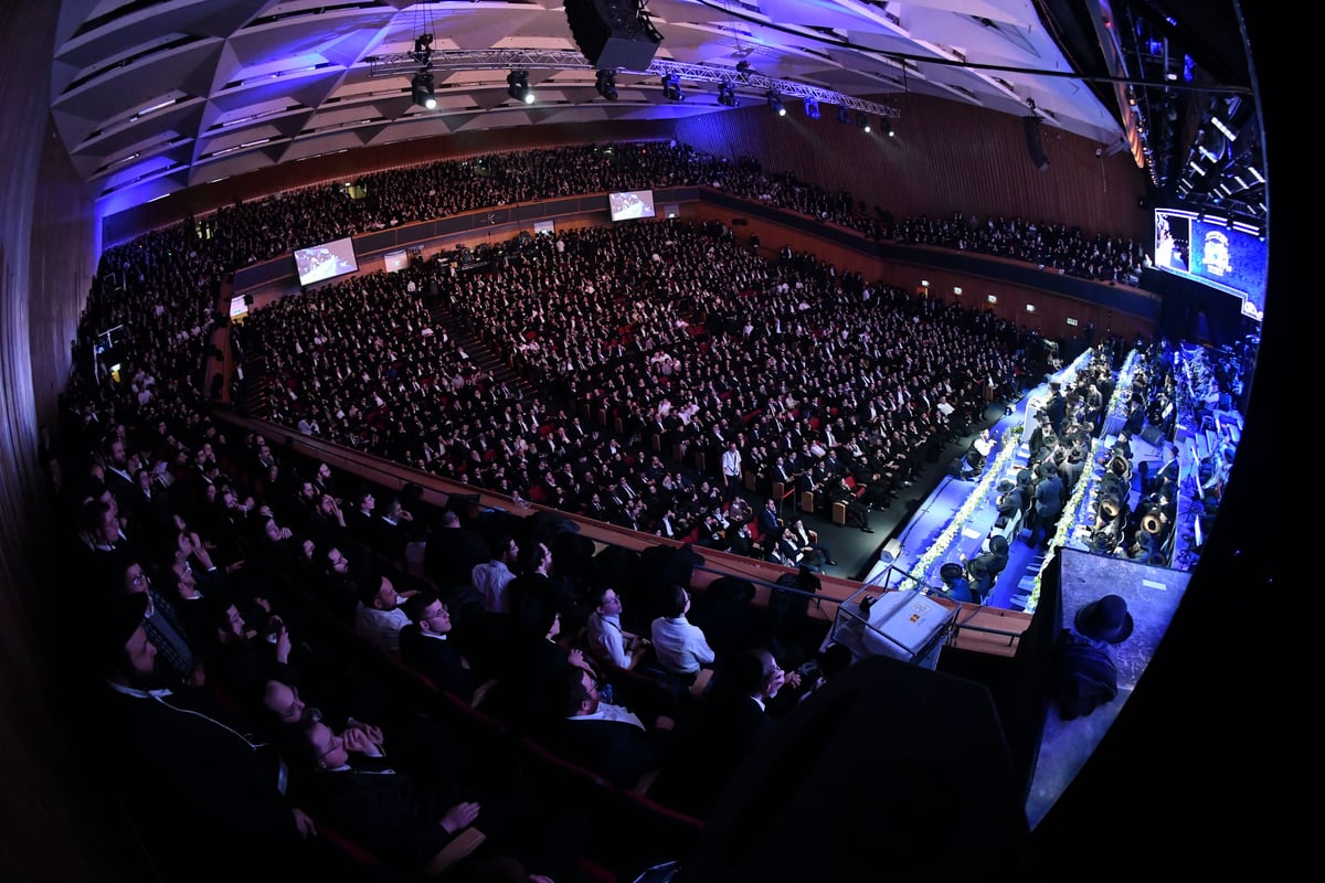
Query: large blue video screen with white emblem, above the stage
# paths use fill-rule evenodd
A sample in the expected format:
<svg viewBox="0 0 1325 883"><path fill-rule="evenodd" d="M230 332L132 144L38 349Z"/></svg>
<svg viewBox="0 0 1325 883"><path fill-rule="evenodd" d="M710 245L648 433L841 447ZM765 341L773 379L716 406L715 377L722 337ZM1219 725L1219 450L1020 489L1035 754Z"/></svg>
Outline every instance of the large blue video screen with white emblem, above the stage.
<svg viewBox="0 0 1325 883"><path fill-rule="evenodd" d="M1155 267L1242 298L1264 319L1268 248L1259 230L1189 209L1155 209Z"/></svg>

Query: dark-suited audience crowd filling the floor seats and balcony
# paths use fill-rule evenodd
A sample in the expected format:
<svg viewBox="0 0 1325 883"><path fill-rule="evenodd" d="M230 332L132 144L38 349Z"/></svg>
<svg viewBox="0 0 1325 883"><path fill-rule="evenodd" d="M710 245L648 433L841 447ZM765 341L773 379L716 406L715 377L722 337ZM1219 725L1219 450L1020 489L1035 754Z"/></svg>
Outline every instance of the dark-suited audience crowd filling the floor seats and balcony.
<svg viewBox="0 0 1325 883"><path fill-rule="evenodd" d="M367 175L362 199L307 188L105 253L60 425L38 453L64 565L86 590L77 643L107 686L103 772L167 872L317 872L321 825L386 866L579 879L590 819L576 829L551 790L502 776L509 764L470 764L472 744L431 741L437 712L415 675L466 707L490 694L517 732L621 786L661 772L669 805L702 817L733 772L714 757L749 753L841 669L824 658L808 674L816 645L800 639L795 605L750 606L754 586L739 580L692 598L689 544L595 556L555 516L431 512L409 488L351 482L209 414L220 388L203 365L236 267L484 207L682 184L880 238L951 245L958 225L893 225L749 160L651 143ZM955 248L1098 278L1134 252L1023 222L965 226ZM1030 380L1030 335L992 314L790 249L770 259L721 225L570 230L486 257L254 311L236 330L246 383L270 381L277 422L429 474L696 547L772 553L782 527L761 528L725 496L722 451L735 446L761 491L803 485L829 500L851 478L884 488L871 506L886 506L929 446ZM470 340L507 360L510 377L480 367ZM831 559L807 534L791 545ZM672 665L652 645L682 626L686 662ZM616 646L611 627L629 635L624 653L599 651ZM690 662L714 675L704 691ZM521 707L535 694L537 708Z"/></svg>

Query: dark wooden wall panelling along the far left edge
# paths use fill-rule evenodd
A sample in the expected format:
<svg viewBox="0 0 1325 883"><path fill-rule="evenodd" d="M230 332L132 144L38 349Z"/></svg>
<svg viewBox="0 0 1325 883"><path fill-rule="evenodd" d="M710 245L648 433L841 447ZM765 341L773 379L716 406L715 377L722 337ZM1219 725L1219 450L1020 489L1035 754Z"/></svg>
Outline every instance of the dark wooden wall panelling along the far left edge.
<svg viewBox="0 0 1325 883"><path fill-rule="evenodd" d="M0 4L0 106L5 114L0 164L0 793L9 810L4 813L0 876L129 879L121 875L125 847L113 842L125 838L129 843L129 834L89 786L89 772L95 770L82 763L60 714L82 698L81 680L69 676L76 654L68 642L69 618L86 612L81 606L86 593L77 590L85 586L57 585L50 579L53 500L36 457L37 428L52 417L54 389L65 380L68 340L87 297L86 267L97 249L87 232L90 207L70 187L68 156L62 167L46 162L60 154L48 124L58 11L58 3ZM97 725L83 714L80 735L91 737ZM87 752L90 745L81 748Z"/></svg>

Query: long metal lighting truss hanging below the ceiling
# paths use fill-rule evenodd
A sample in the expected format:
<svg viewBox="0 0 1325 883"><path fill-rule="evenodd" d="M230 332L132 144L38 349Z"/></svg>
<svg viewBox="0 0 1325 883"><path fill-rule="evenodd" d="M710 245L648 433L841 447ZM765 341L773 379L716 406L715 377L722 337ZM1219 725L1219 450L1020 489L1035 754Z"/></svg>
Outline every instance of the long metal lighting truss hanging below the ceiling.
<svg viewBox="0 0 1325 883"><path fill-rule="evenodd" d="M374 56L368 62L370 77L399 77L420 69L413 53L394 56ZM596 70L582 53L572 49L435 49L427 61L433 73L447 70L507 70L507 69L555 69L555 70ZM839 105L851 110L861 110L886 119L900 119L901 111L892 105L880 105L855 95L847 95L831 89L819 89L790 79L774 79L753 70L739 71L734 68L709 68L689 65L680 61L655 58L647 70L627 71L651 74L661 78L676 74L692 82L729 83L737 91L763 97L770 89L783 98L812 98L825 105Z"/></svg>

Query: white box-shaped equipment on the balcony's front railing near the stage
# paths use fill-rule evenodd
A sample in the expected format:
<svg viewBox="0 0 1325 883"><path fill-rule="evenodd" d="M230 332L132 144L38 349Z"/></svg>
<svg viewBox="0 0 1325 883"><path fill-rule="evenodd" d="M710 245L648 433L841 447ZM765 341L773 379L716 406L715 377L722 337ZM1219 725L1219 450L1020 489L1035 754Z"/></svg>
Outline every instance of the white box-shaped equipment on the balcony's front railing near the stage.
<svg viewBox="0 0 1325 883"><path fill-rule="evenodd" d="M865 598L876 598L868 609L861 606ZM934 669L959 609L955 601L918 589L888 589L877 597L860 589L837 605L837 618L820 649L840 643L856 662L889 657Z"/></svg>

